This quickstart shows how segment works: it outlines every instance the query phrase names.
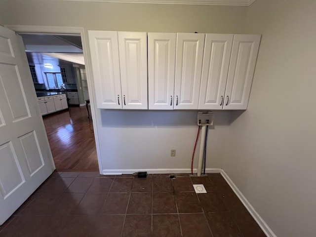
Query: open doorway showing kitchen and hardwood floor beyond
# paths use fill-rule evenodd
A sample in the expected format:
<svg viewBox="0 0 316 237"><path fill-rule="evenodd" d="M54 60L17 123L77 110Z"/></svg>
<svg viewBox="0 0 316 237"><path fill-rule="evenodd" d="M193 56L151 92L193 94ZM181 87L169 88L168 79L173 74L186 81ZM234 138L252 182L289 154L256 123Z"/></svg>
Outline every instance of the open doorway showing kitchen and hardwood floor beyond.
<svg viewBox="0 0 316 237"><path fill-rule="evenodd" d="M19 35L56 170L99 171L80 35Z"/></svg>

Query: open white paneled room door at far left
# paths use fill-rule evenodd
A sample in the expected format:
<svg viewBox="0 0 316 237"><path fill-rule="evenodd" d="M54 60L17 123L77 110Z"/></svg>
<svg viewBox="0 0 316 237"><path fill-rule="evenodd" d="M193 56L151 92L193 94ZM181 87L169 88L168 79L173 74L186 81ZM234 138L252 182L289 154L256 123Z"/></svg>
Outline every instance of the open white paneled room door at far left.
<svg viewBox="0 0 316 237"><path fill-rule="evenodd" d="M0 27L0 225L54 165L22 38Z"/></svg>

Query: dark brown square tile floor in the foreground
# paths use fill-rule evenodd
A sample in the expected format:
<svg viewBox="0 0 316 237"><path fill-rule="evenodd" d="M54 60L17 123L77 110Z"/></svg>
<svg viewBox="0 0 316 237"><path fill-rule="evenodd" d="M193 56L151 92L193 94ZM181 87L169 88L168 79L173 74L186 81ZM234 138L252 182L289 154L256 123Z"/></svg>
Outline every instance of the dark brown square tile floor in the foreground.
<svg viewBox="0 0 316 237"><path fill-rule="evenodd" d="M220 174L179 176L54 172L0 237L265 237Z"/></svg>

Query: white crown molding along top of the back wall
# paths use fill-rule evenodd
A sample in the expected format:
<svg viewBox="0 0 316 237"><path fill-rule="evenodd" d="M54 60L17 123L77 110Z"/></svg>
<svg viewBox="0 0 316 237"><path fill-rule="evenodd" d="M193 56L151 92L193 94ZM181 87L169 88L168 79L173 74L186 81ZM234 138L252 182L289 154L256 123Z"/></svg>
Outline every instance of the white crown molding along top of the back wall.
<svg viewBox="0 0 316 237"><path fill-rule="evenodd" d="M49 1L85 1L85 2L112 2L112 3L249 6L255 0L49 0Z"/></svg>

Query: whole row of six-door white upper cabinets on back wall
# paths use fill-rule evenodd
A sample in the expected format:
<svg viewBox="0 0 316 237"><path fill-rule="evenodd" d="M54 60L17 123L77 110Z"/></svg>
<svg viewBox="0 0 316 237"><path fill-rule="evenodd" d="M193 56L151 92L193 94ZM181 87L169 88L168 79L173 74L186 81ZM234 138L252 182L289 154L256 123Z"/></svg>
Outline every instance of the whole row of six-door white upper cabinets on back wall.
<svg viewBox="0 0 316 237"><path fill-rule="evenodd" d="M261 36L88 35L99 109L247 109Z"/></svg>

